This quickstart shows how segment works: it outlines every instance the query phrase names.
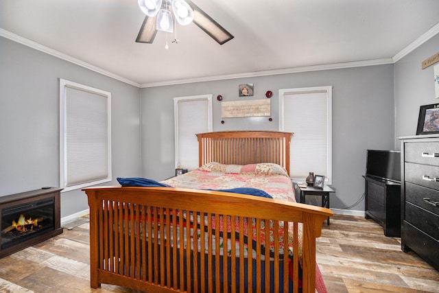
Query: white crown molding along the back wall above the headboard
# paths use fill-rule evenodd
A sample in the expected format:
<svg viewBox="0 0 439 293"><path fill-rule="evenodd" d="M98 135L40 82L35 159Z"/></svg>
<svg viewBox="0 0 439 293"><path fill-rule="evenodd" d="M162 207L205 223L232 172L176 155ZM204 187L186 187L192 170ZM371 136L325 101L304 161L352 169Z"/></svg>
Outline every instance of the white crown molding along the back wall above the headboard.
<svg viewBox="0 0 439 293"><path fill-rule="evenodd" d="M365 67L372 65L385 65L385 64L393 64L392 58L384 58L384 59L375 59L375 60L364 60L364 61L355 61L355 62L343 62L343 63L335 63L329 65L314 65L307 67L295 67L295 68L286 68L286 69L274 69L274 70L266 70L266 71L255 71L255 72L247 72L247 73L236 73L236 74L228 74L228 75L214 75L208 76L205 78L189 78L185 80L170 80L167 82L152 82L147 84L141 84L141 88L149 88L156 86L169 86L175 84L189 84L193 82L211 82L215 80L233 80L236 78L254 78L257 76L266 76L266 75L278 75L278 74L288 74L288 73L300 73L300 72L309 72L309 71L322 71L322 70L331 70L331 69L343 69L343 68L352 68L352 67Z"/></svg>

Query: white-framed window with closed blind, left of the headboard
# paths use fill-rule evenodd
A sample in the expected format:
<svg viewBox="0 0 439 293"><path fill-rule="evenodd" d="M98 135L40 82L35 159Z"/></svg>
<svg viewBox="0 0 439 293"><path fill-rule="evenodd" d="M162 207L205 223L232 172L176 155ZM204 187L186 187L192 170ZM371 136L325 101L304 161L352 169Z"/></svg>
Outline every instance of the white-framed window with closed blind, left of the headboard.
<svg viewBox="0 0 439 293"><path fill-rule="evenodd" d="M176 168L198 168L195 134L212 131L212 95L174 97Z"/></svg>

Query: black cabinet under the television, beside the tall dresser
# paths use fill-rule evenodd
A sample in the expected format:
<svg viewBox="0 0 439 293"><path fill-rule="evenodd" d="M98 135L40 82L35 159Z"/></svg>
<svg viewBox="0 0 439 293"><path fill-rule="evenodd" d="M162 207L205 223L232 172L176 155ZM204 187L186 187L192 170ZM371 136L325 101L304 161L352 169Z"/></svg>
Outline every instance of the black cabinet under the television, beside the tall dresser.
<svg viewBox="0 0 439 293"><path fill-rule="evenodd" d="M365 218L383 226L384 235L401 237L401 183L363 176Z"/></svg>

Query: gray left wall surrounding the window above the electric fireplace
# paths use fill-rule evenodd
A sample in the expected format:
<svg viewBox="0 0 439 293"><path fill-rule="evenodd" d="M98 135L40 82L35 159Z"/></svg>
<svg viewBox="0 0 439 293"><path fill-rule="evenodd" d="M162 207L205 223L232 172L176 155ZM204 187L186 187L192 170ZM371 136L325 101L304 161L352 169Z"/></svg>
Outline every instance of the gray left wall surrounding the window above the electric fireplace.
<svg viewBox="0 0 439 293"><path fill-rule="evenodd" d="M0 196L60 186L58 78L112 93L113 178L140 174L136 86L0 37ZM62 218L85 209L83 191L61 195Z"/></svg>

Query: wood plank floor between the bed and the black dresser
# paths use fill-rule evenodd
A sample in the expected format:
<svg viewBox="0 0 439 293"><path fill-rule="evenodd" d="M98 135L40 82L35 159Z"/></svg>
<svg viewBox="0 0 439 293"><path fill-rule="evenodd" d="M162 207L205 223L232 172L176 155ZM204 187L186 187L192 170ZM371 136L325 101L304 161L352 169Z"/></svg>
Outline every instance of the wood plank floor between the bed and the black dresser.
<svg viewBox="0 0 439 293"><path fill-rule="evenodd" d="M335 215L323 228L316 259L328 292L439 292L439 272L373 220Z"/></svg>

